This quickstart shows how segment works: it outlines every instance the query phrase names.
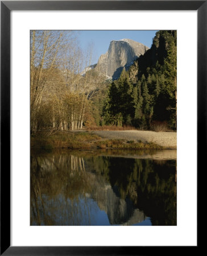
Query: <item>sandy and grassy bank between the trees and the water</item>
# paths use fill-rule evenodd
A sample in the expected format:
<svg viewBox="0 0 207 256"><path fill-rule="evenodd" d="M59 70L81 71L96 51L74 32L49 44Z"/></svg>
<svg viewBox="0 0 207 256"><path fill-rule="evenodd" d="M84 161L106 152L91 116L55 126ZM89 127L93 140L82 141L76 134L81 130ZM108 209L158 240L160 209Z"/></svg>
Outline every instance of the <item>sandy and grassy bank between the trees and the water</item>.
<svg viewBox="0 0 207 256"><path fill-rule="evenodd" d="M86 131L76 130L31 136L32 149L129 149L176 150L176 133L154 131Z"/></svg>

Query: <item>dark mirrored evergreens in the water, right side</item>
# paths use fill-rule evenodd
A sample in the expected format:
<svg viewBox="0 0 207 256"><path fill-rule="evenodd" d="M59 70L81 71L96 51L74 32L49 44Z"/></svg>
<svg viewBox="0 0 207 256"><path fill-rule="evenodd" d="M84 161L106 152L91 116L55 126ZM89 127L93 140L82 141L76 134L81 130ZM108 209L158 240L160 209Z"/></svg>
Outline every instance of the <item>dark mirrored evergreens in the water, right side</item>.
<svg viewBox="0 0 207 256"><path fill-rule="evenodd" d="M151 217L152 225L176 225L175 160L107 156L90 158L88 162L113 188L118 188L122 199L130 199L135 208Z"/></svg>

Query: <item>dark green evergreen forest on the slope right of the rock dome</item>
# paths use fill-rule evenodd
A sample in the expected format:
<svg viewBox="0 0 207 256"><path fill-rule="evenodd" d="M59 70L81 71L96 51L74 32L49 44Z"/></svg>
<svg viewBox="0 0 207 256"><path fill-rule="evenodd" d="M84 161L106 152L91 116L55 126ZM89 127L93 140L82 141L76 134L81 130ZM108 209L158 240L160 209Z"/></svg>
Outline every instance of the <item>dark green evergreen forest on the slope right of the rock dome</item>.
<svg viewBox="0 0 207 256"><path fill-rule="evenodd" d="M96 125L177 127L177 33L158 31L151 48L93 100Z"/></svg>

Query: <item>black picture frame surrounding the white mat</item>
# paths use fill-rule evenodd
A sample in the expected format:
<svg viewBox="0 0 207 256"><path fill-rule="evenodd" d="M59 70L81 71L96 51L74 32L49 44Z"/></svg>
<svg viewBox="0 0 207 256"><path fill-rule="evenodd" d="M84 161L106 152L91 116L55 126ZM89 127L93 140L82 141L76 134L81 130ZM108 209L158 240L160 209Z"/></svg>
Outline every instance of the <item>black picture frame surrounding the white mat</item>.
<svg viewBox="0 0 207 256"><path fill-rule="evenodd" d="M1 255L154 254L159 246L10 246L10 12L12 10L197 10L198 172L207 152L207 1L1 1ZM199 197L197 199L199 202ZM199 235L197 246L191 247L192 253L198 249L198 237ZM174 253L176 246L170 249L168 246L159 247L159 250L161 254L169 250L170 253ZM186 253L186 248L184 250Z"/></svg>

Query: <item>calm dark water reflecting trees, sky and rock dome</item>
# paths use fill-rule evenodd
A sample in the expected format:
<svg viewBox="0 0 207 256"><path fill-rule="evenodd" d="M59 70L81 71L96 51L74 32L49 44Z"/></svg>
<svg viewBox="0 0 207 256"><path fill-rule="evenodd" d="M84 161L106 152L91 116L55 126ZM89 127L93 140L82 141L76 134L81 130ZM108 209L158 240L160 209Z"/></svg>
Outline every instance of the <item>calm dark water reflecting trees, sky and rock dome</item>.
<svg viewBox="0 0 207 256"><path fill-rule="evenodd" d="M176 225L176 151L31 153L31 225Z"/></svg>

